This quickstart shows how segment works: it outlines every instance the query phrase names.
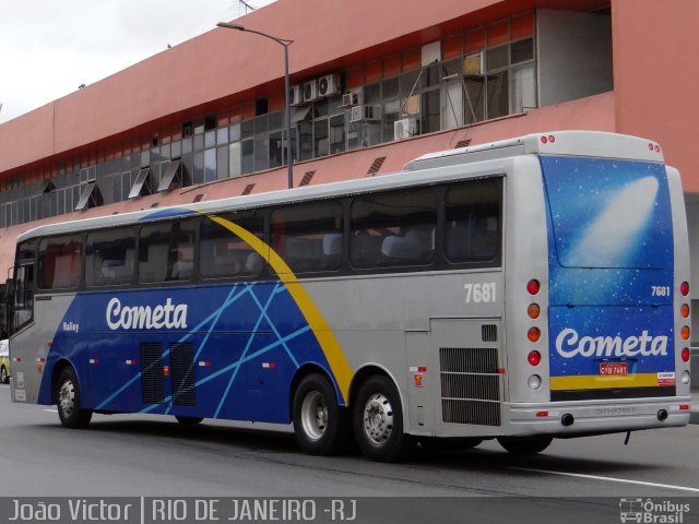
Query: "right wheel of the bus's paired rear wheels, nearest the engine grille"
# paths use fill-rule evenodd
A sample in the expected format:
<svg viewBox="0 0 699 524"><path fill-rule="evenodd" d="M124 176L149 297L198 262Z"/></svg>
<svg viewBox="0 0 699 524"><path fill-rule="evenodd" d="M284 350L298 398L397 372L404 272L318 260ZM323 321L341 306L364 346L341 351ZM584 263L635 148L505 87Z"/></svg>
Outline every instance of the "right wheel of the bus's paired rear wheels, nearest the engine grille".
<svg viewBox="0 0 699 524"><path fill-rule="evenodd" d="M362 452L377 462L394 462L415 450L417 440L403 432L403 408L389 379L370 377L357 391L354 434Z"/></svg>

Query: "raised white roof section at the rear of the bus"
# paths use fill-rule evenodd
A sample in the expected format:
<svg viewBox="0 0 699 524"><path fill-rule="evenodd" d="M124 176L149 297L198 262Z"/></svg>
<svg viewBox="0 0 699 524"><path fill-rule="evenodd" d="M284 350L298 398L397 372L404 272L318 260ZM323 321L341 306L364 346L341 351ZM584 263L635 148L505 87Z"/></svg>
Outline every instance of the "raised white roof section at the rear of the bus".
<svg viewBox="0 0 699 524"><path fill-rule="evenodd" d="M454 166L518 155L590 156L663 163L657 143L600 131L552 131L501 140L473 147L429 153L403 166L405 170Z"/></svg>

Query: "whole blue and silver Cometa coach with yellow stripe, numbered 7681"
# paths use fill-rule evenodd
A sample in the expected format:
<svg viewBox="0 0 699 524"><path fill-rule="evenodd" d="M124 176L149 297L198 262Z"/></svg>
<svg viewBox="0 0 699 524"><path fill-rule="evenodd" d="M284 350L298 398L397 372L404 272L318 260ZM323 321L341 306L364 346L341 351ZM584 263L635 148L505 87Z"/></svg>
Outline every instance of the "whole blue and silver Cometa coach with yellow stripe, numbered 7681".
<svg viewBox="0 0 699 524"><path fill-rule="evenodd" d="M37 227L12 398L293 424L300 448L514 453L689 419L689 253L660 146L562 131L404 171Z"/></svg>

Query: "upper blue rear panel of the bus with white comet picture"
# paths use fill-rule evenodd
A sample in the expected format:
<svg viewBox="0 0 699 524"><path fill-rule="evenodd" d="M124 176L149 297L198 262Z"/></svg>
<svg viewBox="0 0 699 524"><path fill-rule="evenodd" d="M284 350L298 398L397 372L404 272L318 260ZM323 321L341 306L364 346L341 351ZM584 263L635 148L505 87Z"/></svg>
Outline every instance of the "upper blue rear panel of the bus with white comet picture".
<svg viewBox="0 0 699 524"><path fill-rule="evenodd" d="M542 156L541 163L562 266L672 264L672 213L663 165L560 156Z"/></svg>

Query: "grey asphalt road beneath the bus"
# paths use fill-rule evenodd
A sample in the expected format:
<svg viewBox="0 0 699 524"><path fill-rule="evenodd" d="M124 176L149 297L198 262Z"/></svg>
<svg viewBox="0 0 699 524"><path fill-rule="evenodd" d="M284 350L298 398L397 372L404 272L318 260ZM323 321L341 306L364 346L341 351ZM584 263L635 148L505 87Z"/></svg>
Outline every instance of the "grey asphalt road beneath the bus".
<svg viewBox="0 0 699 524"><path fill-rule="evenodd" d="M490 517L491 499L483 498L525 497L514 500L528 504L534 500L538 509L541 501L548 501L542 511L552 514L559 514L566 504L582 504L580 515L585 520L580 522L595 522L588 519L591 508L603 508L600 511L618 519L620 498L697 497L699 516L698 443L699 426L690 425L636 432L629 445L624 445L621 434L554 441L545 452L525 458L487 441L467 451L418 450L405 464L376 464L360 455L308 456L289 433L251 431L220 421L186 427L169 417L95 415L88 429L67 430L60 427L55 407L12 404L9 386L0 385L0 495L4 497L414 499L404 507L423 500L419 497L448 498L440 501L475 497L471 500L478 511ZM359 522L398 522L390 519L395 505L380 500L366 503L386 513ZM453 514L438 509L449 503L427 500L419 505L428 520L440 511ZM414 509L411 515L420 516ZM578 521L567 515L560 522ZM684 522L692 521L685 516Z"/></svg>

